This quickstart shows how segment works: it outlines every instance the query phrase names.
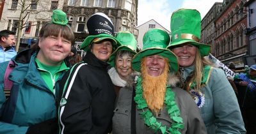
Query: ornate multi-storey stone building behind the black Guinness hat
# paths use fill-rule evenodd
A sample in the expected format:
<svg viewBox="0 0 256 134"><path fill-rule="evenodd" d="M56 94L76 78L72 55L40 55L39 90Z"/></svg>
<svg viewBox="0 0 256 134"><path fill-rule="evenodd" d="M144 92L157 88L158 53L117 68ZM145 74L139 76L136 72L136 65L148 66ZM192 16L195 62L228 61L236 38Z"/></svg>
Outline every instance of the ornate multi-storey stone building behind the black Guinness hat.
<svg viewBox="0 0 256 134"><path fill-rule="evenodd" d="M138 0L65 0L63 11L68 15L68 24L76 34L76 47L88 36L86 22L91 15L102 12L112 20L115 33L130 31L138 36ZM81 55L84 52L78 50Z"/></svg>

